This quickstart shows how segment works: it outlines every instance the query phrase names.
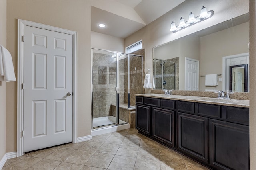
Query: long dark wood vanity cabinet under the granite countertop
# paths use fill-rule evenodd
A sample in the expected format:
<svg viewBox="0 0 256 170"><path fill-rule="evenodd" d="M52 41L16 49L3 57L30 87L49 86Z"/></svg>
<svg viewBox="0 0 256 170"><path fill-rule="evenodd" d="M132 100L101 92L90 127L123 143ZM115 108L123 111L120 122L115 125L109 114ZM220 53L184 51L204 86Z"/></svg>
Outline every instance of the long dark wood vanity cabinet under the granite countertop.
<svg viewBox="0 0 256 170"><path fill-rule="evenodd" d="M136 96L140 133L217 170L249 170L249 109Z"/></svg>

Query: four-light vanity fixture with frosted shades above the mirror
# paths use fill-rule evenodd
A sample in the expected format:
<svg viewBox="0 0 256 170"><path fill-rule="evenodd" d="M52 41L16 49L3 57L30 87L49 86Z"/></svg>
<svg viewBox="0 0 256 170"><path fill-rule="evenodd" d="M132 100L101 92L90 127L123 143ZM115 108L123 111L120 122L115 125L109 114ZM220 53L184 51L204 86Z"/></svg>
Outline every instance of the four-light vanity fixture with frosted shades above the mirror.
<svg viewBox="0 0 256 170"><path fill-rule="evenodd" d="M180 18L180 23L179 25L176 27L175 22L172 21L171 23L171 29L170 31L172 31L173 33L176 33L184 28L190 27L191 25L194 25L198 22L207 20L208 18L211 18L213 16L214 12L213 10L210 10L207 12L206 8L203 6L200 12L200 16L197 16L195 18L194 14L192 12L190 12L189 16L188 16L188 21L185 22L184 18Z"/></svg>

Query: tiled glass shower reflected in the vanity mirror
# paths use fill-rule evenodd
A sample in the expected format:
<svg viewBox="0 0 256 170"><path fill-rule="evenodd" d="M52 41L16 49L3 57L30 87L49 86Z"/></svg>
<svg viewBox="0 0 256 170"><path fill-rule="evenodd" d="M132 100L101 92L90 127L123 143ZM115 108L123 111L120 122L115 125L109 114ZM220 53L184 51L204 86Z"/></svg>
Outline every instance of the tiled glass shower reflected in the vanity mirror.
<svg viewBox="0 0 256 170"><path fill-rule="evenodd" d="M153 59L155 89L177 89L177 64L172 61Z"/></svg>

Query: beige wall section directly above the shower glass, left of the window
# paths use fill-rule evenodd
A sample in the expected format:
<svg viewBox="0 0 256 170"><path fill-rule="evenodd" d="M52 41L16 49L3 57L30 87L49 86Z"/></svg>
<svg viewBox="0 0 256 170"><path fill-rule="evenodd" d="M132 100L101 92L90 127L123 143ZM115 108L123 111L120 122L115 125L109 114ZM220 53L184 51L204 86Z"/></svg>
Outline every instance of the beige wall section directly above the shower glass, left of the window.
<svg viewBox="0 0 256 170"><path fill-rule="evenodd" d="M91 47L110 51L124 51L124 39L92 31Z"/></svg>

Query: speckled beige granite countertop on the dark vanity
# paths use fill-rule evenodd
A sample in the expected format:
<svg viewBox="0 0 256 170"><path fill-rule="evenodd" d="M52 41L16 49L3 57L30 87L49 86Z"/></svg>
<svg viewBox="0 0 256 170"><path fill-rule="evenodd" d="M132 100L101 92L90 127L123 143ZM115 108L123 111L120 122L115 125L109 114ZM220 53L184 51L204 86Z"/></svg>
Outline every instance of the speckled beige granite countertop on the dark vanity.
<svg viewBox="0 0 256 170"><path fill-rule="evenodd" d="M238 100L238 99L228 100L228 99L218 99L218 98L208 98L208 97L198 97L198 96L181 96L181 95L167 95L167 94L156 94L156 93L135 94L135 95L150 97L150 98L182 100L182 101L188 101L188 102L198 102L198 103L249 108L249 100Z"/></svg>

